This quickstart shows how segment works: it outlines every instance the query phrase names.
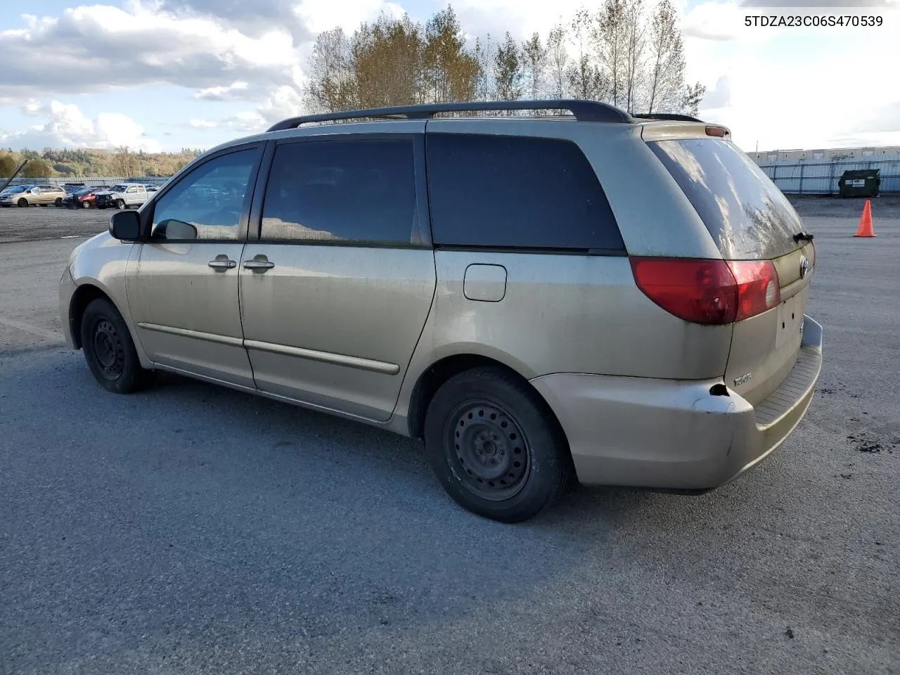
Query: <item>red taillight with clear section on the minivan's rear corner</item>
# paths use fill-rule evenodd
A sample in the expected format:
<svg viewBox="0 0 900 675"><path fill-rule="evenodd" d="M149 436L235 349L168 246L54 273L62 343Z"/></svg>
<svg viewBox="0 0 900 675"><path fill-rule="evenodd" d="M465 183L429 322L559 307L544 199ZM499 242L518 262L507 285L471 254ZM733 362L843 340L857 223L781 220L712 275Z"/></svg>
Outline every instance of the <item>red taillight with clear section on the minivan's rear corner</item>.
<svg viewBox="0 0 900 675"><path fill-rule="evenodd" d="M633 257L631 268L648 298L693 323L734 323L781 302L779 275L768 260Z"/></svg>

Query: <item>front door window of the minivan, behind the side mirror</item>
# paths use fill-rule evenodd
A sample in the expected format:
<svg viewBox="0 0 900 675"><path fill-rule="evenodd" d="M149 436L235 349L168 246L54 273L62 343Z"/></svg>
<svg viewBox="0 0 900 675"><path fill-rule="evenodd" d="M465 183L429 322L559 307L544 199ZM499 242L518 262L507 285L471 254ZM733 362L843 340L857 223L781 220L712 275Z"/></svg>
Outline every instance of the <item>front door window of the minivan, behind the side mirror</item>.
<svg viewBox="0 0 900 675"><path fill-rule="evenodd" d="M244 238L256 148L215 157L194 168L153 208L151 237L229 241Z"/></svg>

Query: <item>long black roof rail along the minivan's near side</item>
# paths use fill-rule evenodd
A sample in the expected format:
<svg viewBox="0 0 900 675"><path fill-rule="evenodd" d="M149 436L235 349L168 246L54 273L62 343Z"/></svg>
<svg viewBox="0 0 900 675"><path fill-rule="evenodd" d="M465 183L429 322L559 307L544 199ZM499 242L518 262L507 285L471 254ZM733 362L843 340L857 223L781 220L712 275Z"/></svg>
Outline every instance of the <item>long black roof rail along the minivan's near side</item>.
<svg viewBox="0 0 900 675"><path fill-rule="evenodd" d="M390 108L368 108L339 112L322 112L314 115L290 117L279 121L267 131L296 129L314 121L338 121L365 118L406 120L430 120L441 112L476 112L507 110L567 110L578 121L633 122L631 116L609 103L581 99L547 99L536 101L469 101L460 103L426 103L424 105L399 105Z"/></svg>

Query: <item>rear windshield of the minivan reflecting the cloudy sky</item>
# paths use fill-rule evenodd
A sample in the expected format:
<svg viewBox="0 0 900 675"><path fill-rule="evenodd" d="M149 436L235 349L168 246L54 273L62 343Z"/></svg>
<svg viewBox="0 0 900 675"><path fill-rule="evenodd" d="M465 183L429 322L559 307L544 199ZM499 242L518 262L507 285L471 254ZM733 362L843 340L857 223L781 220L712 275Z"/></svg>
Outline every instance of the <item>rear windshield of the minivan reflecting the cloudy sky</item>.
<svg viewBox="0 0 900 675"><path fill-rule="evenodd" d="M803 225L788 198L730 141L658 140L649 144L731 259L778 257L797 248Z"/></svg>

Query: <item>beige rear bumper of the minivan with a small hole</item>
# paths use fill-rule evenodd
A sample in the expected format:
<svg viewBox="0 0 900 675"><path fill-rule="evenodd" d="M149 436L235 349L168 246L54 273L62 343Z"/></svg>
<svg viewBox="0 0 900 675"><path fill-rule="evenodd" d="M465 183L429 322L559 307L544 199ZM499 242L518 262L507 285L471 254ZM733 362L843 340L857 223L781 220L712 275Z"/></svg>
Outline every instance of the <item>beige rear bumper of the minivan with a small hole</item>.
<svg viewBox="0 0 900 675"><path fill-rule="evenodd" d="M822 326L804 317L788 377L754 408L721 379L552 374L532 380L563 426L586 485L709 490L776 450L803 419L822 372Z"/></svg>

